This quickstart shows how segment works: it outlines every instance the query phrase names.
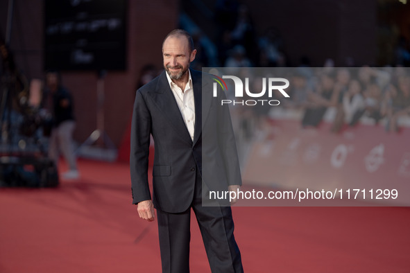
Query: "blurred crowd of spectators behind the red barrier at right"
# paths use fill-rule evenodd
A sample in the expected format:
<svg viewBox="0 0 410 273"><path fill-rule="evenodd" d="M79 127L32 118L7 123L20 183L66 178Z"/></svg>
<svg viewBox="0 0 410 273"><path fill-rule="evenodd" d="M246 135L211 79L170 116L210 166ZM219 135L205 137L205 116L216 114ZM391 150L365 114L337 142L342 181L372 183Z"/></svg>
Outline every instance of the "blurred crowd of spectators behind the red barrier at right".
<svg viewBox="0 0 410 273"><path fill-rule="evenodd" d="M404 67L282 67L211 69L210 73L234 75L244 81L244 97L235 97L232 80L226 95L239 121L239 130L251 137L266 131L271 119L300 121L303 128L316 128L323 121L341 132L358 123L384 126L386 132L410 127L410 69ZM268 78L289 80L284 91L269 94ZM277 80L275 86L284 83ZM249 93L252 96L249 96ZM257 94L263 94L258 96ZM268 101L276 102L268 104ZM234 102L234 103L233 103ZM263 102L263 103L262 103ZM272 105L279 106L272 106Z"/></svg>

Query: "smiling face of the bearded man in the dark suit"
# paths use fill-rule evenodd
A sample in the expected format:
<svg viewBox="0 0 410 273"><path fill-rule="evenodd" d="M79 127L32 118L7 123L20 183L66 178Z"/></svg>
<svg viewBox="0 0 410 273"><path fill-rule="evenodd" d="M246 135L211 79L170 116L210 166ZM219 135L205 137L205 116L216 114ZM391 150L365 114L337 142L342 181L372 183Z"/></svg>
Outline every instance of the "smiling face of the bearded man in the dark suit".
<svg viewBox="0 0 410 273"><path fill-rule="evenodd" d="M172 80L180 80L187 73L189 63L195 59L196 50L189 52L185 36L170 36L162 46L164 69Z"/></svg>

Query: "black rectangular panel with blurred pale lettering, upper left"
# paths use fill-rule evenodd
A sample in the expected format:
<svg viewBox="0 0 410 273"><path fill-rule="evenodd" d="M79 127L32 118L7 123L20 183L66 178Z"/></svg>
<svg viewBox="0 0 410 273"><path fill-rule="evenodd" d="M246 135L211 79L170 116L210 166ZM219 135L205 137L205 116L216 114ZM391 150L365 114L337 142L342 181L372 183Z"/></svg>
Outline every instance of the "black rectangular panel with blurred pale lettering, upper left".
<svg viewBox="0 0 410 273"><path fill-rule="evenodd" d="M126 0L46 0L44 69L126 69Z"/></svg>

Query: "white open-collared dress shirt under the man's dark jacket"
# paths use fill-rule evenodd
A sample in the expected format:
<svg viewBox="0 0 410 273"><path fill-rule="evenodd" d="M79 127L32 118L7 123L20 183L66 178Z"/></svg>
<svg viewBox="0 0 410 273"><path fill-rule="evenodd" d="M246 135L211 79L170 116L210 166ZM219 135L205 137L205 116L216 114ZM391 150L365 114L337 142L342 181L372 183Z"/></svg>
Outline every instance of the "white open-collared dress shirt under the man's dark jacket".
<svg viewBox="0 0 410 273"><path fill-rule="evenodd" d="M191 78L191 71L189 71L189 80L187 85L185 85L185 90L182 91L178 85L176 85L171 78L169 78L168 73L166 74L166 78L168 79L169 86L171 87L171 91L173 96L175 97L176 103L180 109L182 119L187 126L189 135L191 139L194 140L194 127L195 127L195 102L194 102L194 87L192 85L192 78Z"/></svg>

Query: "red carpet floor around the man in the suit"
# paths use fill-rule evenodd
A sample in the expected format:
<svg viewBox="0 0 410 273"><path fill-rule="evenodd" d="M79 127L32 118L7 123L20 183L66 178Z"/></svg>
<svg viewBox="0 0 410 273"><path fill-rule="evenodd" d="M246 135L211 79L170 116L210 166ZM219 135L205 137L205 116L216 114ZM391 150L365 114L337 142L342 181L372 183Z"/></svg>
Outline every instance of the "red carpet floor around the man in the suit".
<svg viewBox="0 0 410 273"><path fill-rule="evenodd" d="M0 272L160 272L156 222L130 204L128 165L79 164L82 178L59 188L0 189ZM410 272L410 209L233 211L246 272ZM210 272L192 222L191 272Z"/></svg>

